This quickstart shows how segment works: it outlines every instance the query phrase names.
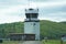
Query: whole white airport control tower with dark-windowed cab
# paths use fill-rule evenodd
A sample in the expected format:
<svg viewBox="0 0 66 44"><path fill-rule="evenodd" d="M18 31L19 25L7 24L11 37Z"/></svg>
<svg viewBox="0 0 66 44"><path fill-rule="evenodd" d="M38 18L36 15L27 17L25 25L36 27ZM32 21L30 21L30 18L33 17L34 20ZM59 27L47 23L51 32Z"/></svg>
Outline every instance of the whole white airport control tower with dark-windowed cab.
<svg viewBox="0 0 66 44"><path fill-rule="evenodd" d="M38 9L25 9L24 34L34 34L35 40L40 40Z"/></svg>

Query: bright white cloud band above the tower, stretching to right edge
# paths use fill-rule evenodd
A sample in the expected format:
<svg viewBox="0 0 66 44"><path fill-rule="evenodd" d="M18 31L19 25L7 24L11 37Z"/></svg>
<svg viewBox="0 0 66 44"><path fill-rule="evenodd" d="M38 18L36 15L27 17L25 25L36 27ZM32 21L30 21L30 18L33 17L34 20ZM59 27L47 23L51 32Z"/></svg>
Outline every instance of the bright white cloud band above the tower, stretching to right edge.
<svg viewBox="0 0 66 44"><path fill-rule="evenodd" d="M32 8L46 8L46 7L57 7L57 6L65 6L66 1L61 2L31 2L30 7Z"/></svg>

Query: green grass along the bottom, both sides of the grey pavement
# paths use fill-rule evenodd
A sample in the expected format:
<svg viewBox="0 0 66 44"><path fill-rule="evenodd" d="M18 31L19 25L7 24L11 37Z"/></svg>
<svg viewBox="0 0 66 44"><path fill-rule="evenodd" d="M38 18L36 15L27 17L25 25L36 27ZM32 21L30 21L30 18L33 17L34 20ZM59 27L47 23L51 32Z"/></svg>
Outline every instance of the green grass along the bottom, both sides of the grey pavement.
<svg viewBox="0 0 66 44"><path fill-rule="evenodd" d="M20 44L23 41L3 41L2 44ZM59 40L43 40L41 44L62 44ZM66 42L63 42L63 44L66 44Z"/></svg>

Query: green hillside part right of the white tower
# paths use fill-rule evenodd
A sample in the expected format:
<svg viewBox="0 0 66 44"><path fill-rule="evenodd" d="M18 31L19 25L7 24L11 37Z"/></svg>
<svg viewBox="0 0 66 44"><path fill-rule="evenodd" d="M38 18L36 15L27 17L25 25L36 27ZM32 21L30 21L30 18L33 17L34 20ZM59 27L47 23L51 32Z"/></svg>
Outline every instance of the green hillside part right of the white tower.
<svg viewBox="0 0 66 44"><path fill-rule="evenodd" d="M66 35L66 24L46 20L41 21L41 35L59 38L62 35Z"/></svg>

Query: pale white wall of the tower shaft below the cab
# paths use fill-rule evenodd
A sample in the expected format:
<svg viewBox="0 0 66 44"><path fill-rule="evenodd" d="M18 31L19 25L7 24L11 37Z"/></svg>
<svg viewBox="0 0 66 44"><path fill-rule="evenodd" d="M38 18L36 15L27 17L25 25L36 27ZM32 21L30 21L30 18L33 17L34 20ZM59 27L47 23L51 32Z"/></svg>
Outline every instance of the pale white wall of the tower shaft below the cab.
<svg viewBox="0 0 66 44"><path fill-rule="evenodd" d="M24 22L24 33L35 34L35 40L40 40L40 22Z"/></svg>

